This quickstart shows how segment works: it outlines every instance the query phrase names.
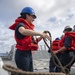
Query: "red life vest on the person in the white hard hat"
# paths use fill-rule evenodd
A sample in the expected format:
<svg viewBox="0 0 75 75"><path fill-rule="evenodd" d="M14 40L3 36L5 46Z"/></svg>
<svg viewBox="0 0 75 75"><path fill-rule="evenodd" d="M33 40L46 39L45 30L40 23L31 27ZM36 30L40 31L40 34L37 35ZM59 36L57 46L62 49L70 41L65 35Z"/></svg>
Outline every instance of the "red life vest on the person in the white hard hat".
<svg viewBox="0 0 75 75"><path fill-rule="evenodd" d="M68 50L75 50L75 32L65 33L65 35L61 39L60 47L64 46L64 41L67 36L69 36L71 38L70 48L68 48Z"/></svg>

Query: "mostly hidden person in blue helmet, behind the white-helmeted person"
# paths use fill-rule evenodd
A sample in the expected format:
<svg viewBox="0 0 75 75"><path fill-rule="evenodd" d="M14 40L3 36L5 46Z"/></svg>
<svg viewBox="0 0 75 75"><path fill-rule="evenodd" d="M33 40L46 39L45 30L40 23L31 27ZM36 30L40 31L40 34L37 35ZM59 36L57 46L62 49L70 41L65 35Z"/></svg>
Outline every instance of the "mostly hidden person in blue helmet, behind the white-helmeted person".
<svg viewBox="0 0 75 75"><path fill-rule="evenodd" d="M60 38L57 37L53 42L52 42L52 52L58 50L59 47L59 42L60 42ZM59 58L60 57L60 53L57 53L56 56ZM52 56L50 57L50 61L49 61L49 72L56 72L56 65L54 64L53 60L52 60Z"/></svg>

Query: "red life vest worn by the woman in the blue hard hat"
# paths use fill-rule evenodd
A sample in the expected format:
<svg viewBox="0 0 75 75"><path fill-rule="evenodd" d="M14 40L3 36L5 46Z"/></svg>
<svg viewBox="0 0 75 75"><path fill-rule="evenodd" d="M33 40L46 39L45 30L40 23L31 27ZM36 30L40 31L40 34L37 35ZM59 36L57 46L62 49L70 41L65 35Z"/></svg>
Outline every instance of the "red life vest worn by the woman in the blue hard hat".
<svg viewBox="0 0 75 75"><path fill-rule="evenodd" d="M16 26L19 23L23 23L26 29L30 29L33 30L34 29L34 25L33 24L29 24L26 20L24 20L23 18L18 18L16 19L15 23L13 25L11 25L9 28L12 30L15 30ZM38 44L34 44L32 43L32 36L25 36L23 39L18 39L15 36L15 40L16 40L16 48L19 50L38 50Z"/></svg>

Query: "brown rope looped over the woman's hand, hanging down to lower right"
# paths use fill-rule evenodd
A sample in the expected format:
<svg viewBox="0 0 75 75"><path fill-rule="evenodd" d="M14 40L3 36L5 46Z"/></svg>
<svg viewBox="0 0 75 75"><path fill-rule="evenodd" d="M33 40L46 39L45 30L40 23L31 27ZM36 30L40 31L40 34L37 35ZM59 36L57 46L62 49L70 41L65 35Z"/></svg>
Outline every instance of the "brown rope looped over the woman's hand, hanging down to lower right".
<svg viewBox="0 0 75 75"><path fill-rule="evenodd" d="M49 34L49 36L51 37L51 33L49 32L49 31L44 31L44 33L48 33ZM52 38L52 37L51 37ZM44 40L44 39L43 39ZM49 50L50 50L50 52L51 52L51 55L52 55L52 60L53 60L53 62L54 62L54 64L57 66L57 67L59 67L59 68L61 68L62 69L62 72L63 73L65 73L65 74L69 74L69 70L68 70L68 68L66 68L66 67L68 67L68 66L70 66L71 64L72 64L72 62L74 61L74 59L75 59L75 55L74 55L74 57L72 58L72 60L67 64L67 65L65 65L65 66L62 66L62 64L61 64L61 62L59 61L59 59L58 59L58 57L52 52L52 39L50 40L50 47L49 47L49 45L47 44L47 42L44 40L44 42L45 42L45 44L46 44L46 46L49 48ZM56 61L58 62L58 64L55 62L55 59L56 59ZM67 73L66 73L66 71L67 71Z"/></svg>

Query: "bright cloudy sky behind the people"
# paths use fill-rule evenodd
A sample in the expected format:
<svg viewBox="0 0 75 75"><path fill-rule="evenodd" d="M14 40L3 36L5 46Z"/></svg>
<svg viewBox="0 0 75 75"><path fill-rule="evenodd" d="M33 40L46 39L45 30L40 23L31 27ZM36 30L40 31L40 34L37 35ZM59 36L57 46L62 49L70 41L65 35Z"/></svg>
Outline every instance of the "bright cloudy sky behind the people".
<svg viewBox="0 0 75 75"><path fill-rule="evenodd" d="M53 40L63 34L66 25L75 25L75 0L0 0L0 52L9 51L15 44L14 31L8 27L26 6L32 7L37 15L35 30L50 31Z"/></svg>

